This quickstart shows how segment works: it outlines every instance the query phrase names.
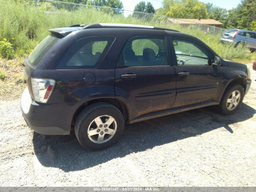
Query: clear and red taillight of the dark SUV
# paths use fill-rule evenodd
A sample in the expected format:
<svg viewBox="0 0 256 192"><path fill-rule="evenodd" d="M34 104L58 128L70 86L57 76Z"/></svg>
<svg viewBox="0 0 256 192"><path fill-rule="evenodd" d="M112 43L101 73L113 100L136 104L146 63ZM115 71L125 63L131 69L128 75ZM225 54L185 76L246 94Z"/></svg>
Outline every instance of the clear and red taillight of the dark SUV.
<svg viewBox="0 0 256 192"><path fill-rule="evenodd" d="M55 80L31 78L31 85L35 101L39 103L47 103L52 94Z"/></svg>

